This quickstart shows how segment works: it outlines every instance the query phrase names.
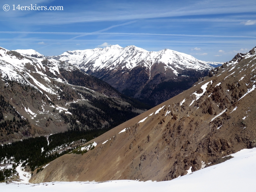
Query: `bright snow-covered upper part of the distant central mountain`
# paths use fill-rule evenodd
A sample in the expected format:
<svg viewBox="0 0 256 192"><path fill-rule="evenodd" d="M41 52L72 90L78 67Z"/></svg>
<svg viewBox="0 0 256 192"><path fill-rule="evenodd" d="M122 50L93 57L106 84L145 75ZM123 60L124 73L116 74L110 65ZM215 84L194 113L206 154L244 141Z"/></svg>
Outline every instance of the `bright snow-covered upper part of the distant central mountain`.
<svg viewBox="0 0 256 192"><path fill-rule="evenodd" d="M146 67L151 75L154 65L162 63L164 70L170 70L178 76L185 69L204 70L211 68L204 61L197 60L185 53L164 49L158 52L149 52L134 45L121 47L111 45L110 47L75 50L62 53L55 57L61 61L67 61L79 69L91 73L105 70L127 71L137 66ZM179 71L179 72L178 72ZM150 78L153 78L150 76ZM150 80L149 78L149 80Z"/></svg>

